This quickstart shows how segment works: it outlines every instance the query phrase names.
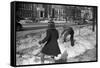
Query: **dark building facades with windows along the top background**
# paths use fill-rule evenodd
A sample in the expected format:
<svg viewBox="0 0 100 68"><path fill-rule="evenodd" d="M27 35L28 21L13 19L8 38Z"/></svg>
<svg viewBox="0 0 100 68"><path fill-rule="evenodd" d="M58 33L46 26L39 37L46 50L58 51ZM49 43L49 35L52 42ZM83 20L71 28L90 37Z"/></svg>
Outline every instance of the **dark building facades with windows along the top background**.
<svg viewBox="0 0 100 68"><path fill-rule="evenodd" d="M17 3L16 17L17 19L45 20L53 17L55 20L79 19L82 17L80 7L49 5L49 4L33 4L33 3Z"/></svg>

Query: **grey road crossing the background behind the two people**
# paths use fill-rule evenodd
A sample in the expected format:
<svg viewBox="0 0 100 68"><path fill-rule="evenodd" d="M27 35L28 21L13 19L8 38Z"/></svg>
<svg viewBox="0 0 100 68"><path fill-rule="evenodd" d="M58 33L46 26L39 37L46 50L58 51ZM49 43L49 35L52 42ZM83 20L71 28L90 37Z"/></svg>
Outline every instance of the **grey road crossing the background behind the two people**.
<svg viewBox="0 0 100 68"><path fill-rule="evenodd" d="M61 27L63 26L65 23L56 23L56 27ZM38 24L23 24L23 28L21 29L21 31L27 31L27 30L37 30L37 29L45 29L48 26L48 23L38 23ZM71 26L71 27L83 27L83 26L87 26L90 24L85 24L85 25L77 25L77 24L70 24L70 23L66 23L67 26Z"/></svg>

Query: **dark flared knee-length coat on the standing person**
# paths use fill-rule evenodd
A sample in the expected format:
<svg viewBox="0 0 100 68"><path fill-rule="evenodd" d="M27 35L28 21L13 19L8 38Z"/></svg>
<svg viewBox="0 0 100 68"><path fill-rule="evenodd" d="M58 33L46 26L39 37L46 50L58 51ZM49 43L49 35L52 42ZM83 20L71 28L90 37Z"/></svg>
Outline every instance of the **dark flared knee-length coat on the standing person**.
<svg viewBox="0 0 100 68"><path fill-rule="evenodd" d="M46 42L42 49L42 53L46 55L57 56L61 53L57 42L59 37L58 31L56 29L48 29L46 32L47 36L41 41L41 43Z"/></svg>

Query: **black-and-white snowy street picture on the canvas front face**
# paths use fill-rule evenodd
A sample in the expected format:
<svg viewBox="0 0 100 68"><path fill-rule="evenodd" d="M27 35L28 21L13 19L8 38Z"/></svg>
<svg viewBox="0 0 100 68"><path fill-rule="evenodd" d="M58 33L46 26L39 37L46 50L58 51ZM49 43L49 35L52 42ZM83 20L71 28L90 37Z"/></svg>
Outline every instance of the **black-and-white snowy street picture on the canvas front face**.
<svg viewBox="0 0 100 68"><path fill-rule="evenodd" d="M16 66L97 61L97 6L14 4Z"/></svg>

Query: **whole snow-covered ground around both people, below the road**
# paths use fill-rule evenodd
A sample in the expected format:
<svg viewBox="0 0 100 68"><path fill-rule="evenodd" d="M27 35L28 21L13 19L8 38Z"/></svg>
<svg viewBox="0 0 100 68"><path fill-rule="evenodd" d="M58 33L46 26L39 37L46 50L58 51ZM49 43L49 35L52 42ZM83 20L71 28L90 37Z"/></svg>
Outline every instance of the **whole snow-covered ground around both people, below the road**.
<svg viewBox="0 0 100 68"><path fill-rule="evenodd" d="M67 42L62 43L62 38L58 39L61 54L55 59L67 59L66 62L94 61L96 60L96 31L92 32L92 26L74 28L75 45L70 44L69 36ZM57 28L59 35L62 28ZM41 64L41 49L43 47L38 42L46 36L46 29L20 31L16 33L16 63L17 65ZM50 56L45 56L45 63L54 63Z"/></svg>

